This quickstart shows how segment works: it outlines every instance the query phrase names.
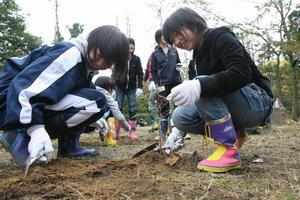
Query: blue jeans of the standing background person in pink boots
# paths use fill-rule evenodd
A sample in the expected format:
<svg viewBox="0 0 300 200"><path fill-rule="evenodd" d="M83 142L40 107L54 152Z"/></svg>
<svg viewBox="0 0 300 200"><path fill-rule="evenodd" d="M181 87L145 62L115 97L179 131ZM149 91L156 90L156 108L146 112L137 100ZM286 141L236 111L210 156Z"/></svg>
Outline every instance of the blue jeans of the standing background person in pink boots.
<svg viewBox="0 0 300 200"><path fill-rule="evenodd" d="M116 87L116 101L121 111L123 109L125 95L127 95L128 100L129 119L136 120L136 88L124 91Z"/></svg>

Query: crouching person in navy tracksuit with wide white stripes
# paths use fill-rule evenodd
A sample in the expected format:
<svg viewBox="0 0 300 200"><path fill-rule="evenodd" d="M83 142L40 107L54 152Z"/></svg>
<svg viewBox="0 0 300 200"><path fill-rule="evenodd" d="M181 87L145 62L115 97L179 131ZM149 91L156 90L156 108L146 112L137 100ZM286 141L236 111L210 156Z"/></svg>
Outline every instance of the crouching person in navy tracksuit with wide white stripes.
<svg viewBox="0 0 300 200"><path fill-rule="evenodd" d="M127 38L114 26L8 58L0 71L0 142L20 165L52 152L50 138L59 139L58 156L97 155L79 145L84 127L106 110L90 72L114 64L120 75L127 60Z"/></svg>

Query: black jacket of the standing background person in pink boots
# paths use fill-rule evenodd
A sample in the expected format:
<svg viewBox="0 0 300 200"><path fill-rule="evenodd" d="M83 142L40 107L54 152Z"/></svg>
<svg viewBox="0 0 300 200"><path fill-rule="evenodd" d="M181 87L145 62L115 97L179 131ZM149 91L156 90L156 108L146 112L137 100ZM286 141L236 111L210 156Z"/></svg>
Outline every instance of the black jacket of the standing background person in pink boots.
<svg viewBox="0 0 300 200"><path fill-rule="evenodd" d="M122 90L132 90L135 88L143 88L143 68L140 57L133 54L129 61L127 74L124 79L116 80L116 86Z"/></svg>

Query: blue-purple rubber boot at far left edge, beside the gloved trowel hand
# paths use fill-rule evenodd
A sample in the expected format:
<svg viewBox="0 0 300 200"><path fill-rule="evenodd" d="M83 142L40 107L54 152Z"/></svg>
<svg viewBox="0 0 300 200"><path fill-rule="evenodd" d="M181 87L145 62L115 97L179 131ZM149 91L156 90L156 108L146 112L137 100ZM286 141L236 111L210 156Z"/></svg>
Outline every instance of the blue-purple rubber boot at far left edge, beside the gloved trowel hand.
<svg viewBox="0 0 300 200"><path fill-rule="evenodd" d="M29 156L29 141L30 137L26 134L26 129L4 131L0 136L3 147L11 154L13 160L23 167Z"/></svg>

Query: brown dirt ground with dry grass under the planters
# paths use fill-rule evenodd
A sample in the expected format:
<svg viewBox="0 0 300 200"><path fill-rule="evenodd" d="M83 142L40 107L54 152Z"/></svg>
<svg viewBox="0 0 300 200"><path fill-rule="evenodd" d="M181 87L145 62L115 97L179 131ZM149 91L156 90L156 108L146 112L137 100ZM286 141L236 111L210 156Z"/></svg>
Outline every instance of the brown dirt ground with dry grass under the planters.
<svg viewBox="0 0 300 200"><path fill-rule="evenodd" d="M24 169L0 148L0 199L300 199L300 124L279 122L251 135L242 167L222 174L196 169L204 158L199 135L191 135L177 154L148 152L133 159L154 142L157 133L149 127L138 127L136 142L123 133L116 147L104 146L98 134L84 134L82 145L99 149L100 156L53 156L47 166L31 168L26 180Z"/></svg>

